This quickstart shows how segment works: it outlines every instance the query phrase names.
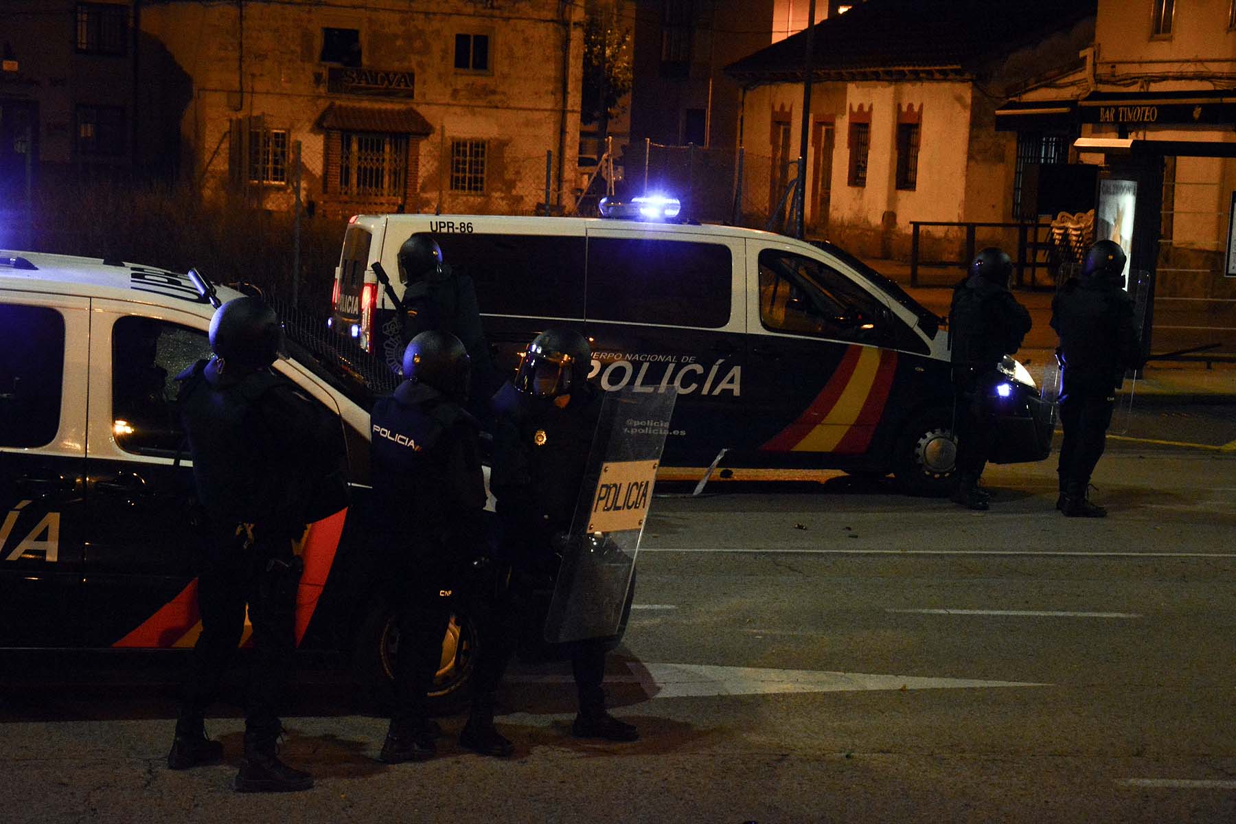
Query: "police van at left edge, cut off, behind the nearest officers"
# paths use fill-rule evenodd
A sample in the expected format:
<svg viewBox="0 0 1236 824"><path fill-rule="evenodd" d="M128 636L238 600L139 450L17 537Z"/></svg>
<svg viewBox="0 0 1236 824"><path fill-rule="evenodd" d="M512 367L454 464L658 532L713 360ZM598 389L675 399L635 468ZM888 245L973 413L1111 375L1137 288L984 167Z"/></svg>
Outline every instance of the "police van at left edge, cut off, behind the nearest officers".
<svg viewBox="0 0 1236 824"><path fill-rule="evenodd" d="M213 311L184 274L0 252L0 649L193 646L192 462L174 378L209 357ZM340 421L352 493L302 541L297 641L341 652L381 694L398 636L368 542L372 395L330 358L286 350L274 369ZM444 639L444 703L483 644L468 612Z"/></svg>

